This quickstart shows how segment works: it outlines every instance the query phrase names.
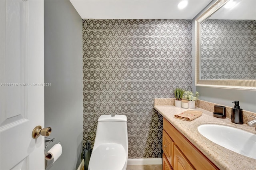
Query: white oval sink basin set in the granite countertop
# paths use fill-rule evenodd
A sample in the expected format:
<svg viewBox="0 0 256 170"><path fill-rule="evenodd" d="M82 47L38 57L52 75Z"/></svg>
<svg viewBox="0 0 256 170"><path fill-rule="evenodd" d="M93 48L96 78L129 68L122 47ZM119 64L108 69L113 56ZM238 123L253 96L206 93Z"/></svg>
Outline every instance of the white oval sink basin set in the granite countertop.
<svg viewBox="0 0 256 170"><path fill-rule="evenodd" d="M223 125L200 125L200 134L238 154L256 159L256 134Z"/></svg>

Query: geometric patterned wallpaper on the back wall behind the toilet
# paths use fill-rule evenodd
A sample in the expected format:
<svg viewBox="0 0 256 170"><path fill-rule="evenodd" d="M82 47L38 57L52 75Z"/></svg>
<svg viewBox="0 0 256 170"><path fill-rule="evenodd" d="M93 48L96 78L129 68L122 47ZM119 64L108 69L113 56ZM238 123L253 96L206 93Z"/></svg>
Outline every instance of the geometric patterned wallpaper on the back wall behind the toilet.
<svg viewBox="0 0 256 170"><path fill-rule="evenodd" d="M84 146L100 115L127 116L128 158L161 158L154 98L192 90L191 20L83 19Z"/></svg>

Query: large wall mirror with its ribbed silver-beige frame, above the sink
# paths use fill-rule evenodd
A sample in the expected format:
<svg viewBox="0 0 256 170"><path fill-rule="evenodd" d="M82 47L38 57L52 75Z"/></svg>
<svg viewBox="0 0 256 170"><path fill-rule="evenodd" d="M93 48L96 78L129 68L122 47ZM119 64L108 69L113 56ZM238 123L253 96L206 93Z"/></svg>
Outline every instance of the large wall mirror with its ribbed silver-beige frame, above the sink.
<svg viewBox="0 0 256 170"><path fill-rule="evenodd" d="M195 20L195 85L256 90L256 1L217 0Z"/></svg>

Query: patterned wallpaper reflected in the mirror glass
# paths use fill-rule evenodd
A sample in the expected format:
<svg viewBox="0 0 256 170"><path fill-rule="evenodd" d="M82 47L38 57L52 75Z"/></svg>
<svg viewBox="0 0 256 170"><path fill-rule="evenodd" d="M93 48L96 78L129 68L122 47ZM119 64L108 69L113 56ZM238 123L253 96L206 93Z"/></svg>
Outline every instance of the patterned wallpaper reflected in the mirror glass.
<svg viewBox="0 0 256 170"><path fill-rule="evenodd" d="M201 35L201 79L256 79L256 20L205 20Z"/></svg>

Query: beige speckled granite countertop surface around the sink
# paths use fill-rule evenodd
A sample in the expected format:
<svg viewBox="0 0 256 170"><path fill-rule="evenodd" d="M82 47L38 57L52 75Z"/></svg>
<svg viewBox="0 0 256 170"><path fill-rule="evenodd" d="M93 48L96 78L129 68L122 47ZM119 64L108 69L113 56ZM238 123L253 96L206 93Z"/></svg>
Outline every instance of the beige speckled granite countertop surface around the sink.
<svg viewBox="0 0 256 170"><path fill-rule="evenodd" d="M175 114L182 113L188 109L171 105L154 106L154 108L221 170L256 170L255 159L243 156L215 144L202 136L197 130L197 127L202 124L218 124L240 128L255 134L255 127L249 127L245 123L243 125L234 124L231 123L228 118L220 119L213 117L212 112L200 108L190 109L203 112L202 116L193 121L182 121L174 118Z"/></svg>

